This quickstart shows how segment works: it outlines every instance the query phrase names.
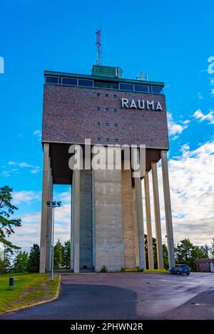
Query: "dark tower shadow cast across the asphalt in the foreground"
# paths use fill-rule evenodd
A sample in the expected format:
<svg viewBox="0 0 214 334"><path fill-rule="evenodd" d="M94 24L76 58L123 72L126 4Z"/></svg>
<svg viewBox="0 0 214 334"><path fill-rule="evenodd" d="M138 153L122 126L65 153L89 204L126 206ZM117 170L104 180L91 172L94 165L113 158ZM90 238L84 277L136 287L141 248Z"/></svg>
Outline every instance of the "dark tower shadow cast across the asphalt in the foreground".
<svg viewBox="0 0 214 334"><path fill-rule="evenodd" d="M25 308L0 319L139 319L136 292L116 286L62 284L56 301Z"/></svg>

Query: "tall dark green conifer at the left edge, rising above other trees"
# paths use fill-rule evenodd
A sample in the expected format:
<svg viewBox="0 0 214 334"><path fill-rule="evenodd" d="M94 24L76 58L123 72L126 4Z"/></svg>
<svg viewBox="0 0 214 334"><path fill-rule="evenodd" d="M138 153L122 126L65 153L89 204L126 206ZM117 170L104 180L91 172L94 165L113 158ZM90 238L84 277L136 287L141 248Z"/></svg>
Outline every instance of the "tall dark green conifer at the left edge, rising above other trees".
<svg viewBox="0 0 214 334"><path fill-rule="evenodd" d="M6 240L6 236L10 236L14 233L14 227L21 226L21 219L10 218L11 215L14 214L14 211L18 209L11 204L11 200L13 199L11 196L12 192L13 189L8 186L0 188L0 241L10 250L20 249L20 247Z"/></svg>

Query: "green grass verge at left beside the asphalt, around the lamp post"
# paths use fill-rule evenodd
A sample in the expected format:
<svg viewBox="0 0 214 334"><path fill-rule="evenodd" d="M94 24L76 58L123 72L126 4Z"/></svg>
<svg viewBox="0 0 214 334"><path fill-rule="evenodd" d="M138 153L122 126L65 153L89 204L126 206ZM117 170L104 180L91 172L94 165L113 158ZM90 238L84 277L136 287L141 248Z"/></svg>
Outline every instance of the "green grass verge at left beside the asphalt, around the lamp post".
<svg viewBox="0 0 214 334"><path fill-rule="evenodd" d="M9 277L15 278L15 285L9 288ZM59 275L50 281L47 273L10 273L0 275L0 314L14 308L31 306L49 301L56 296Z"/></svg>

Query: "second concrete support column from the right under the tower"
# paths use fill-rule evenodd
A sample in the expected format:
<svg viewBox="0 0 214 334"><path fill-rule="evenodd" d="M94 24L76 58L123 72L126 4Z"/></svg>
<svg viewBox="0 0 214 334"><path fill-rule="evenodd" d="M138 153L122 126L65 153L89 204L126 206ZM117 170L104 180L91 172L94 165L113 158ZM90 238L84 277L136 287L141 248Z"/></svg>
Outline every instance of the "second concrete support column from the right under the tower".
<svg viewBox="0 0 214 334"><path fill-rule="evenodd" d="M156 223L156 246L157 246L157 258L158 258L158 269L163 268L163 247L162 247L162 236L161 236L161 214L160 214L160 202L158 192L158 172L157 163L151 162L152 176L153 176L153 202L154 202L154 213Z"/></svg>

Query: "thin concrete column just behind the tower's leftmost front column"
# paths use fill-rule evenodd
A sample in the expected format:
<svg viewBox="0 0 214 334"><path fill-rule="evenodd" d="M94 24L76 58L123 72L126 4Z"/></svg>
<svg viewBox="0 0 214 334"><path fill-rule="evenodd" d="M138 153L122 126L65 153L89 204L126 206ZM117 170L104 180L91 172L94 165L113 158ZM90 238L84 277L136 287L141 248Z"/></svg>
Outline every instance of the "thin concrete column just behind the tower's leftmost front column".
<svg viewBox="0 0 214 334"><path fill-rule="evenodd" d="M49 158L50 165L50 179L49 179L49 201L53 201L53 177L51 175L51 158ZM51 271L51 241L52 241L52 229L53 229L53 209L48 208L48 228L47 228L47 251L46 251L46 270Z"/></svg>

